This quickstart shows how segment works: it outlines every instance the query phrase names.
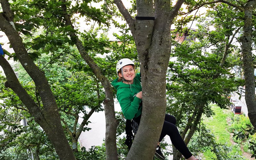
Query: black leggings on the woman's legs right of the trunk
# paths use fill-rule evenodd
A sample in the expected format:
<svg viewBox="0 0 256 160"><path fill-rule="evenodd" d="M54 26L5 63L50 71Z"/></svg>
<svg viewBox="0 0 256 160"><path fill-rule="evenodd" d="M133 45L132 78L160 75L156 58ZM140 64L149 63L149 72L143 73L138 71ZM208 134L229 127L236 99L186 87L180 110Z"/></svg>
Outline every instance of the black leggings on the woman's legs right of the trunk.
<svg viewBox="0 0 256 160"><path fill-rule="evenodd" d="M172 115L165 114L164 125L160 135L159 142L163 140L164 136L170 136L173 146L177 148L178 151L180 151L180 153L186 159L188 159L189 157L192 156L192 153L188 150L188 147L186 146L184 140L181 138L180 132L178 131L178 128L176 127L175 124L176 118Z"/></svg>

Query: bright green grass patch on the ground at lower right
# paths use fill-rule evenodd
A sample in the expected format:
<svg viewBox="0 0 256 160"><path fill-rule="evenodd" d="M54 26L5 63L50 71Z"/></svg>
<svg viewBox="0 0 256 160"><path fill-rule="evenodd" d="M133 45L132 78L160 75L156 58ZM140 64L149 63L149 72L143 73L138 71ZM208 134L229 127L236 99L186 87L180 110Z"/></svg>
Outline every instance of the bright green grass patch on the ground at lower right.
<svg viewBox="0 0 256 160"><path fill-rule="evenodd" d="M216 142L221 144L227 144L228 147L232 147L232 151L228 153L228 156L231 155L242 155L242 151L239 144L232 145L230 141L230 134L228 132L228 123L226 118L230 117L230 114L233 114L230 110L224 110L218 107L217 105L212 104L212 110L215 113L212 117L208 118L203 116L204 124L208 129L212 131L214 136L216 137ZM203 153L204 158L208 159L216 159L216 155L211 152L211 150L207 150ZM238 159L238 158L237 158ZM246 159L246 158L239 158Z"/></svg>

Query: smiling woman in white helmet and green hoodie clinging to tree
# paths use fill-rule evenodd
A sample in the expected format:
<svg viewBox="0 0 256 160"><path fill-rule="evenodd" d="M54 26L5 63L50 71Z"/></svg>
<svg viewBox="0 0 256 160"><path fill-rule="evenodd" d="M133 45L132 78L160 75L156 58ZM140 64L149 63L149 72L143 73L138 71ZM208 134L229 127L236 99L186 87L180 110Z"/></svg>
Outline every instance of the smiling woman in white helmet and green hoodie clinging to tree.
<svg viewBox="0 0 256 160"><path fill-rule="evenodd" d="M129 120L131 122L132 120L133 132L136 134L142 113L142 88L140 84L140 73L135 73L134 63L132 60L127 58L121 59L117 62L116 73L118 78L112 82L112 85L117 90L116 97L122 108L123 115L127 119L127 122L129 122ZM131 124L127 125L127 122L126 134L128 132L127 130L129 130L129 126L131 126ZM161 142L164 136L169 135L172 144L186 159L198 160L188 150L175 124L175 117L169 114L165 114L164 125L159 138L159 142ZM132 140L130 140L130 144L126 143L129 149L132 145L131 141ZM157 144L155 155L160 159L164 159L164 155L161 152L159 143Z"/></svg>

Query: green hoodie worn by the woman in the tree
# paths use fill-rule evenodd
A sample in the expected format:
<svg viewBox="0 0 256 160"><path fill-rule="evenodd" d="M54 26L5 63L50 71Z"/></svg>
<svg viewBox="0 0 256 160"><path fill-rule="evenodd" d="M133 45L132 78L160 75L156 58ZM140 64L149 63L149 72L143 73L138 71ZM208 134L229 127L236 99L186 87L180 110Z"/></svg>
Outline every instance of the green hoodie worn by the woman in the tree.
<svg viewBox="0 0 256 160"><path fill-rule="evenodd" d="M123 115L126 119L136 118L141 115L142 107L139 108L140 101L136 97L137 93L142 91L140 85L140 73L136 73L133 84L125 84L123 81L117 82L116 78L111 84L116 88L116 98L120 103Z"/></svg>

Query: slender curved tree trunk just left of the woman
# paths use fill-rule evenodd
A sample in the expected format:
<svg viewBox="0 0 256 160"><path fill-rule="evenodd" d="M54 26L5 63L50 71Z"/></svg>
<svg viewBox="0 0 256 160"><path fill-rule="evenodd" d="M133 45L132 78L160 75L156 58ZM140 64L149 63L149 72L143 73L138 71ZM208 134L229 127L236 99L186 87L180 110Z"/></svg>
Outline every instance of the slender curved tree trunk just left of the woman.
<svg viewBox="0 0 256 160"><path fill-rule="evenodd" d="M63 11L63 16L66 25L70 25L74 28L71 20L70 15L67 14L67 6L66 1L62 0L61 9ZM92 68L92 72L94 75L99 79L100 83L104 87L105 90L105 100L103 102L104 110L105 110L105 117L106 117L106 134L105 134L105 146L106 146L106 156L109 160L117 160L117 148L116 148L116 129L118 126L118 121L116 120L115 116L115 108L114 108L114 98L113 98L113 90L111 84L108 81L108 78L103 75L101 72L100 67L92 60L89 54L86 52L82 42L78 38L78 36L73 33L69 32L69 36L72 41L76 43L76 47L81 54L84 61Z"/></svg>

